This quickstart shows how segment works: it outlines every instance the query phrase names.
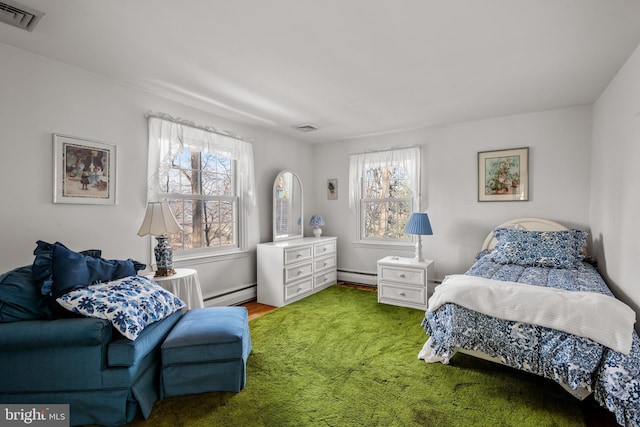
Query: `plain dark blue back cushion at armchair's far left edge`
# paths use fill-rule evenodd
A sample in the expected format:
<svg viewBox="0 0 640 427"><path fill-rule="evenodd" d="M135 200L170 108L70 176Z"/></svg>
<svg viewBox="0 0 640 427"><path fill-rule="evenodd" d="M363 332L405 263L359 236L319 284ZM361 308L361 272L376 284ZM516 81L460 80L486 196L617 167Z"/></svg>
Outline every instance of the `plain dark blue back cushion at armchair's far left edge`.
<svg viewBox="0 0 640 427"><path fill-rule="evenodd" d="M42 319L41 297L30 265L4 273L0 276L0 323Z"/></svg>

